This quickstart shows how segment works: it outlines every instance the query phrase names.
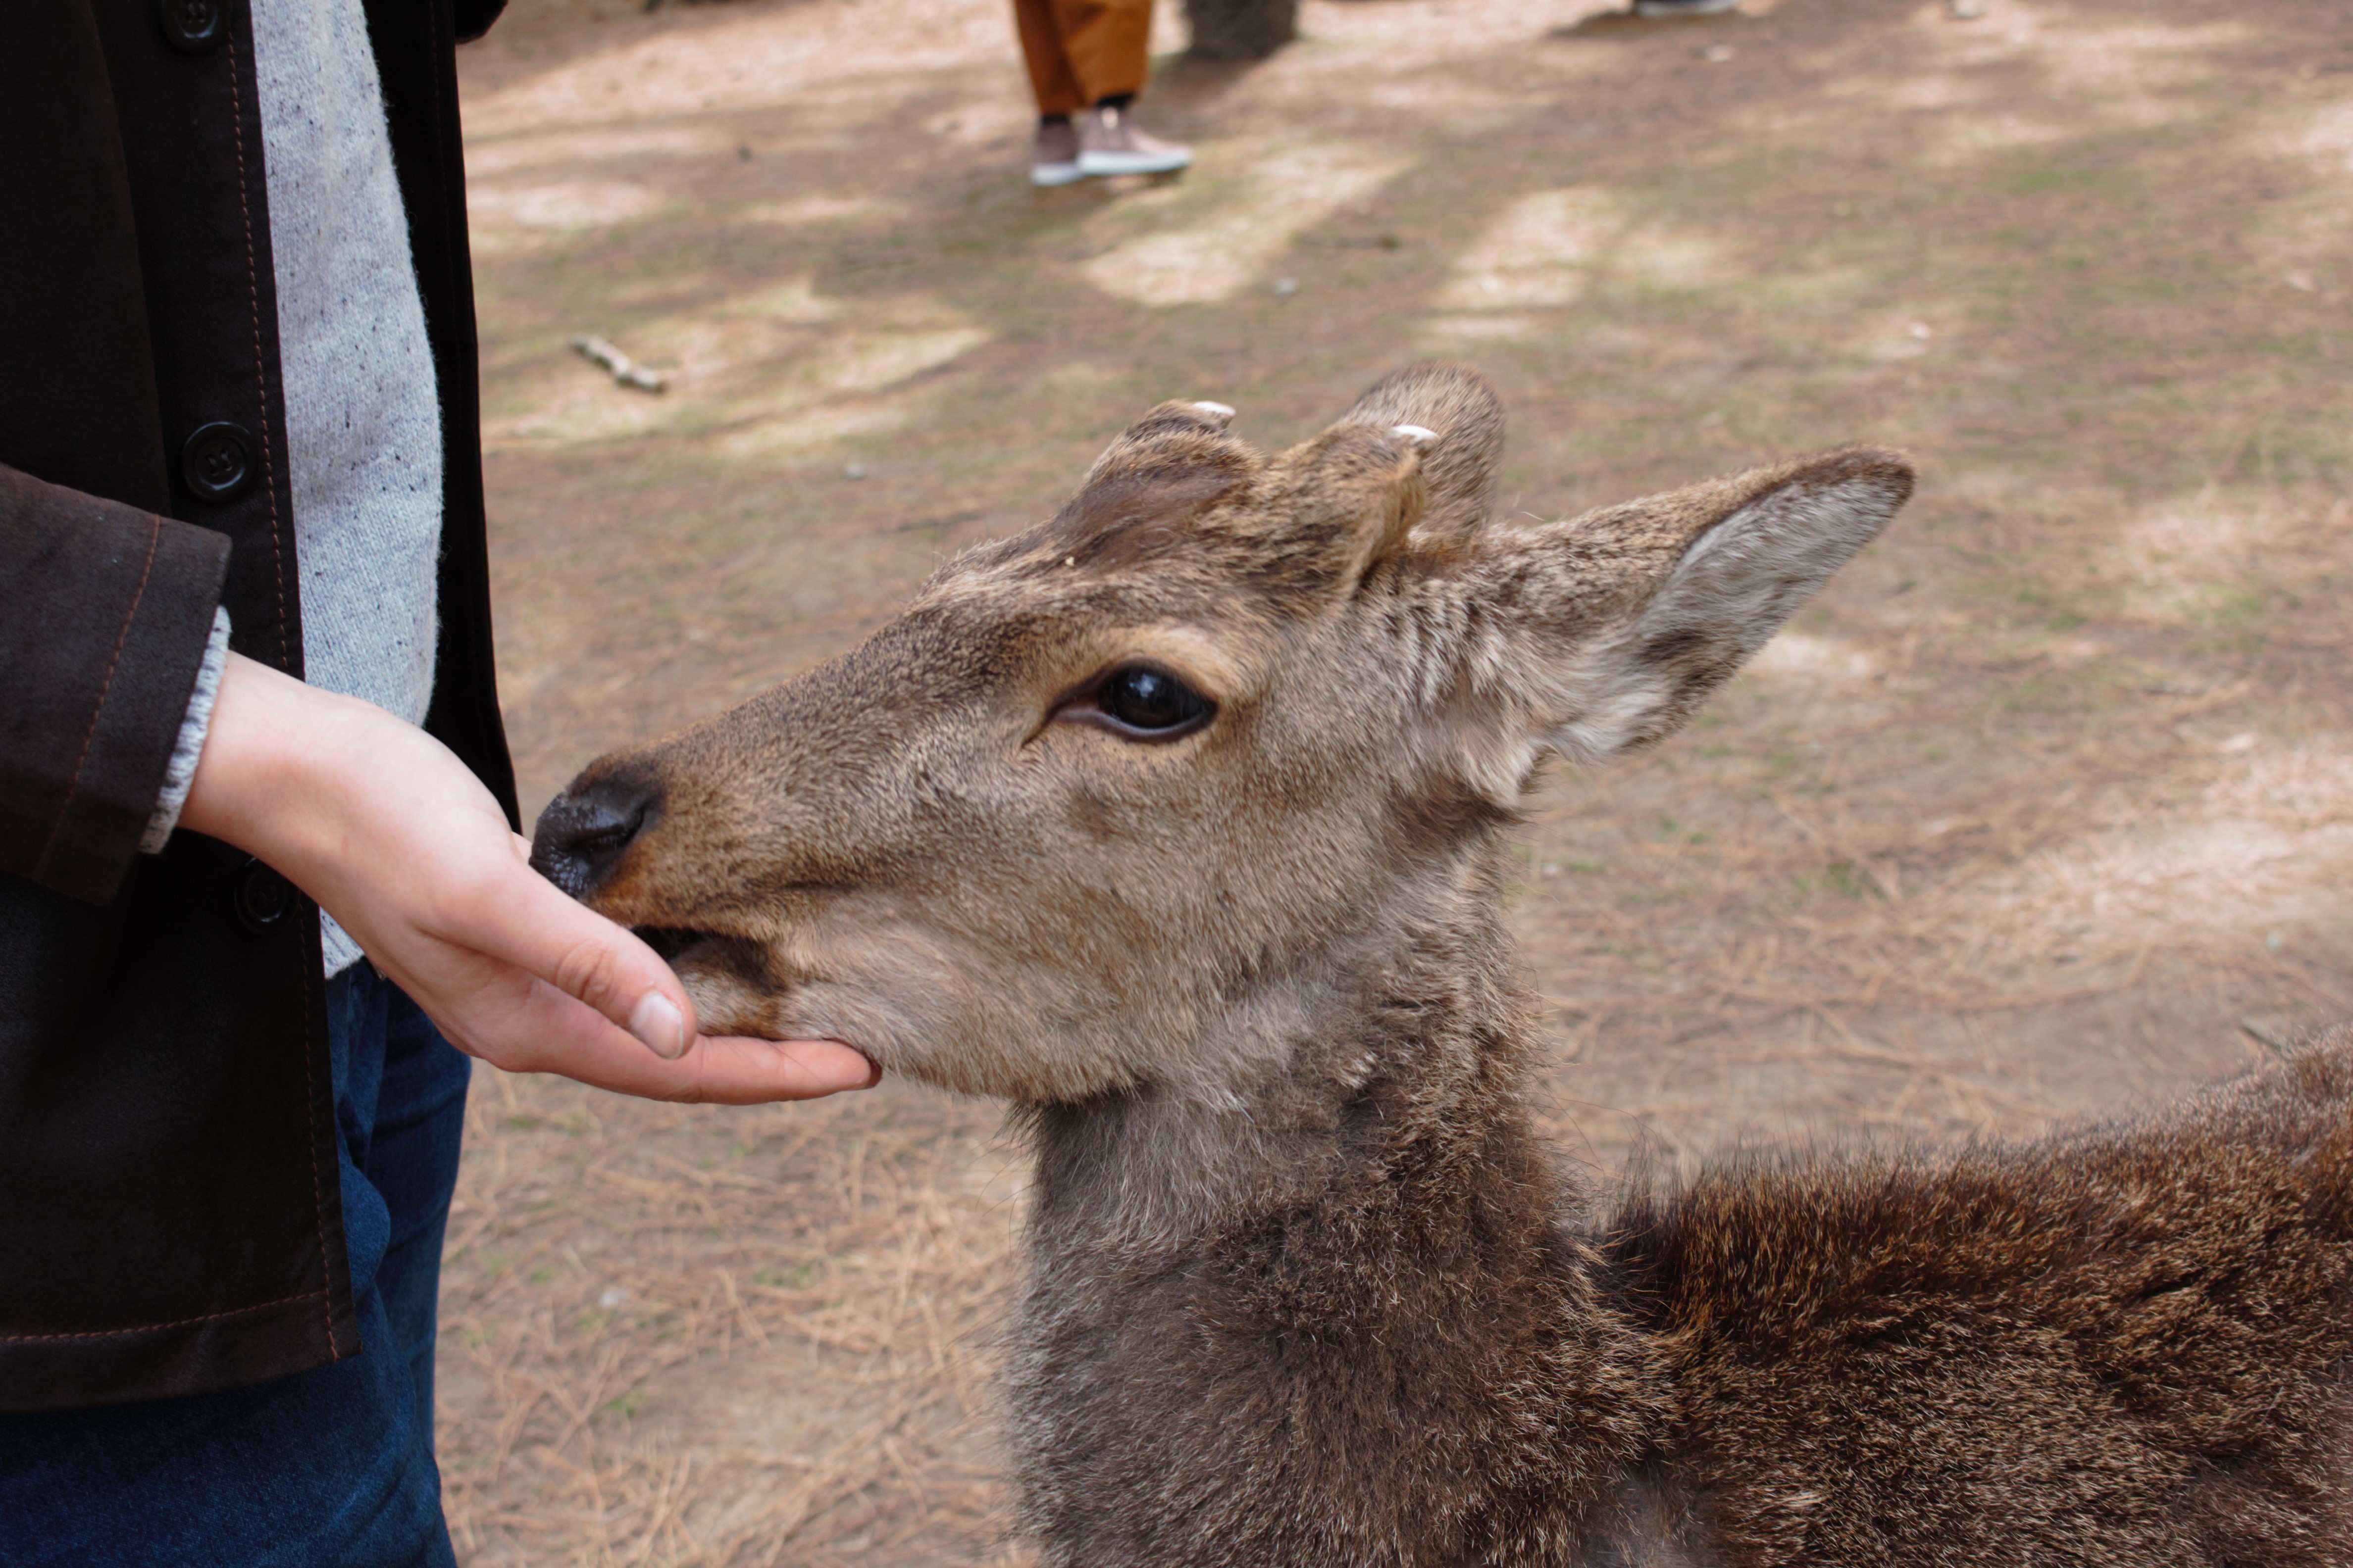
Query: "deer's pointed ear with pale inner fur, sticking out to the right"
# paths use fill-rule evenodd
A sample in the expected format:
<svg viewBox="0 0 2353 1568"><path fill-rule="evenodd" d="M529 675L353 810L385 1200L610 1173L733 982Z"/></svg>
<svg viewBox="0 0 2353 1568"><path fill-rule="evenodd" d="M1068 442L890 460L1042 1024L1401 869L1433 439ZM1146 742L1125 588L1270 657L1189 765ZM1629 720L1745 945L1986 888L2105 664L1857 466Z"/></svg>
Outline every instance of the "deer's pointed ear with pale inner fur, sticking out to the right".
<svg viewBox="0 0 2353 1568"><path fill-rule="evenodd" d="M1551 745L1602 762L1673 733L1913 491L1849 447L1492 538L1464 571L1487 621L1464 686L1515 797Z"/></svg>

